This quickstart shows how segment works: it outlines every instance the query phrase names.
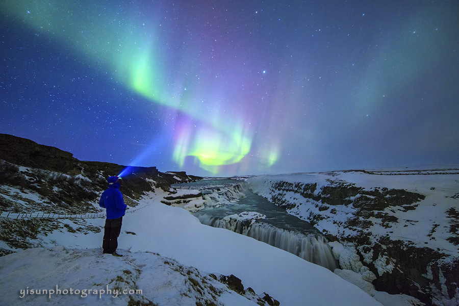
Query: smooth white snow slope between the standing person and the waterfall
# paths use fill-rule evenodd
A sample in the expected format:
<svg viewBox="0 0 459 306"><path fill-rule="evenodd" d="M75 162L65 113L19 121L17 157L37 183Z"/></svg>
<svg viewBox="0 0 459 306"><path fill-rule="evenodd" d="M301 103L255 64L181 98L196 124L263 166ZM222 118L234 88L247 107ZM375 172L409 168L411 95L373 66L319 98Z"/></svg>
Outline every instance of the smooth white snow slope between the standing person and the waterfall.
<svg viewBox="0 0 459 306"><path fill-rule="evenodd" d="M202 271L234 274L284 305L377 305L369 295L320 266L252 238L199 223L187 211L158 202L123 220L120 246L149 249ZM312 276L314 275L314 276Z"/></svg>

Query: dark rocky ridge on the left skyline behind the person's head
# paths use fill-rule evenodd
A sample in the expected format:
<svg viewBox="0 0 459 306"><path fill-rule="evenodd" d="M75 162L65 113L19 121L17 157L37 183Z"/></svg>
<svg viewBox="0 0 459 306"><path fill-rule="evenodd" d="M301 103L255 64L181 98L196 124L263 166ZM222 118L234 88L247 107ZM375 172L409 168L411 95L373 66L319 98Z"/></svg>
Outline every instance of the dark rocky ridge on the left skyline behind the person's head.
<svg viewBox="0 0 459 306"><path fill-rule="evenodd" d="M126 166L113 163L80 161L74 158L70 152L8 134L0 134L0 160L7 162L0 165L3 172L0 173L0 184L16 183L18 186L31 188L39 193L40 189L42 193L46 192L44 185L47 185L46 180L43 180L44 177L37 177L37 175L40 176L37 174L38 172L43 172L40 170L64 174L67 175L66 177L81 175L85 177L86 184L94 185L93 187L96 189L105 189L107 187L105 179L108 176L117 175L126 168ZM8 165L8 163L36 169L35 172L37 173L27 176L25 172L30 174L30 171L18 171L16 167ZM14 177L13 181L11 181L12 176ZM178 171L162 173L156 167L132 167L130 174L123 179L123 193L135 198L144 191L151 191L152 187L146 179L154 180L156 187L168 189L170 184L196 181L201 177Z"/></svg>

